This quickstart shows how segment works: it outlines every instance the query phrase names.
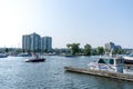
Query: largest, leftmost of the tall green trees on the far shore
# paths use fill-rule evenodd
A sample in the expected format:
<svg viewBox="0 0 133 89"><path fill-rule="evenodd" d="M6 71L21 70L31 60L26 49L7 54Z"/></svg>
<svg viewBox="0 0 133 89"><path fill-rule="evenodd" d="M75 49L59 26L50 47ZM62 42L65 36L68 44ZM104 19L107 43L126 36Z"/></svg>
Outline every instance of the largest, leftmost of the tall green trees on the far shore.
<svg viewBox="0 0 133 89"><path fill-rule="evenodd" d="M75 55L80 52L80 43L68 43L66 47L71 49L71 53Z"/></svg>

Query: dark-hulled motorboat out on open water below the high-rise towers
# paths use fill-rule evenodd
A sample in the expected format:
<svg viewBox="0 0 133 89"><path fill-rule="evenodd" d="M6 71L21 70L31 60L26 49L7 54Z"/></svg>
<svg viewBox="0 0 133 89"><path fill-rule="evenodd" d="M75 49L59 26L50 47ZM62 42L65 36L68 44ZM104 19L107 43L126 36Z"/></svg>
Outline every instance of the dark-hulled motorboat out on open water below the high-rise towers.
<svg viewBox="0 0 133 89"><path fill-rule="evenodd" d="M39 56L32 56L31 58L27 59L25 62L44 62L45 58Z"/></svg>

